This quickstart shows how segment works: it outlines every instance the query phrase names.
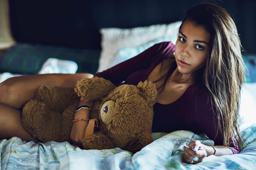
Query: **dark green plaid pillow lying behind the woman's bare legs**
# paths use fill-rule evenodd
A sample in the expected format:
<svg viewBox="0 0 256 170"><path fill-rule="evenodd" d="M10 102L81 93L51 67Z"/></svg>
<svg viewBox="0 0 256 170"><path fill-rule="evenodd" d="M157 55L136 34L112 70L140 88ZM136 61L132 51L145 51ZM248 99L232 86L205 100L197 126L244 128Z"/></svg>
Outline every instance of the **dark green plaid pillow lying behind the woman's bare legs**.
<svg viewBox="0 0 256 170"><path fill-rule="evenodd" d="M97 71L99 57L100 50L17 43L0 58L0 72L37 74L48 58L57 58L76 62L77 72L94 74Z"/></svg>

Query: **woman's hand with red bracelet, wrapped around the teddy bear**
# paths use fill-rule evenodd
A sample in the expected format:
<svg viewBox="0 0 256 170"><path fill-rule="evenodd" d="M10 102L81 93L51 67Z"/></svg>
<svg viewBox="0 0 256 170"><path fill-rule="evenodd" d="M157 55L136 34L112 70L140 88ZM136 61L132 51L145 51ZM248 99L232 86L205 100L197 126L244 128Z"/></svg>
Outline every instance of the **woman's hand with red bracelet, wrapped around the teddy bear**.
<svg viewBox="0 0 256 170"><path fill-rule="evenodd" d="M89 109L82 109L75 113L74 119L88 119ZM88 126L88 121L74 122L70 133L71 141L82 147L82 139L85 137L85 130Z"/></svg>

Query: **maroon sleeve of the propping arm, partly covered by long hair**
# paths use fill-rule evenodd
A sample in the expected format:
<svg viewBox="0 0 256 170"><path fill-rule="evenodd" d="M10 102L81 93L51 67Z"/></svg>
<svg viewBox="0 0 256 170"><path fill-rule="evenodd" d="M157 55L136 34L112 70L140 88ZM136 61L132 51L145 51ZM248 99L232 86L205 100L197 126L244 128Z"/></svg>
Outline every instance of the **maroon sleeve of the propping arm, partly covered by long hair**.
<svg viewBox="0 0 256 170"><path fill-rule="evenodd" d="M215 145L223 145L223 131L221 132L221 130L217 130L218 120L213 113L210 99L208 100L208 95L202 94L199 96L196 106L198 114L197 120L200 128L203 129L209 139L214 140ZM229 148L232 150L233 154L239 153L239 147L234 136L230 136Z"/></svg>

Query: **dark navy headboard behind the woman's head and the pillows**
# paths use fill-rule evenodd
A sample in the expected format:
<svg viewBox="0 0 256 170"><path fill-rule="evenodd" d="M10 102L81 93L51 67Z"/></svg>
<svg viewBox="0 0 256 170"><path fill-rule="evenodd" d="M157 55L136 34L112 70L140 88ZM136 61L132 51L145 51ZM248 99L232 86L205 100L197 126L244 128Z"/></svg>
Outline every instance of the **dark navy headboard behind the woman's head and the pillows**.
<svg viewBox="0 0 256 170"><path fill-rule="evenodd" d="M131 28L181 20L201 0L9 0L18 42L100 49L99 28ZM247 53L256 53L256 1L212 1L232 15Z"/></svg>

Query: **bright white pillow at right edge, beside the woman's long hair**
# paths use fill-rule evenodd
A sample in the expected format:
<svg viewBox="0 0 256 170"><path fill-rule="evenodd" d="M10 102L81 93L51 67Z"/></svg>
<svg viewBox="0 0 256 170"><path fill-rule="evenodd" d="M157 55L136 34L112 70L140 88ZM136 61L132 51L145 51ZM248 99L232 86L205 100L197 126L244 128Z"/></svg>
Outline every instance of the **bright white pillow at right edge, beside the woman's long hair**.
<svg viewBox="0 0 256 170"><path fill-rule="evenodd" d="M245 83L241 89L240 130L256 124L256 83Z"/></svg>

